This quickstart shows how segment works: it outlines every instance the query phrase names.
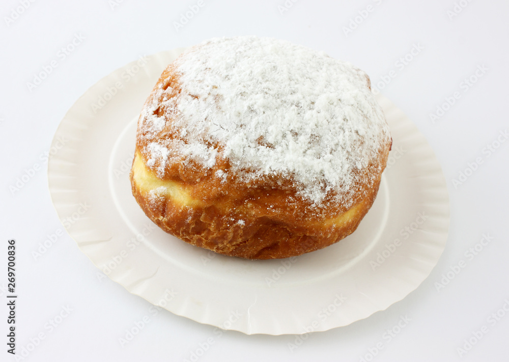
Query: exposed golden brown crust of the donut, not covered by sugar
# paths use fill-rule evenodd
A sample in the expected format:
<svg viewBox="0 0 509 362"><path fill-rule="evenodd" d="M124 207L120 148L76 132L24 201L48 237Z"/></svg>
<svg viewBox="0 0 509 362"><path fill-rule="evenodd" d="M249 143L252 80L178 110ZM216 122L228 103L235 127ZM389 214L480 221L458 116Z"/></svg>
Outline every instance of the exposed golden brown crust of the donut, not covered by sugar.
<svg viewBox="0 0 509 362"><path fill-rule="evenodd" d="M160 89L167 91L158 92ZM232 172L219 143L214 144L218 152L210 168L179 154L168 157L162 168L160 160L149 161L146 150L151 140L178 137L171 126L177 115L168 108L168 100L178 102L181 91L179 76L171 64L145 104L147 108L165 103L166 108L153 110L153 114L164 117L165 126L155 136L147 137L151 130L142 127L147 115L140 116L130 173L136 201L165 232L220 254L271 259L322 249L355 231L376 198L390 139L380 141L378 153L367 167L355 169L351 186L355 193L348 204L337 203L332 190L316 205L298 193L291 177L274 174L245 181L238 172ZM264 140L259 142L263 144ZM168 152L173 152L172 147L168 146ZM162 173L156 173L161 169ZM218 177L218 172L224 177Z"/></svg>

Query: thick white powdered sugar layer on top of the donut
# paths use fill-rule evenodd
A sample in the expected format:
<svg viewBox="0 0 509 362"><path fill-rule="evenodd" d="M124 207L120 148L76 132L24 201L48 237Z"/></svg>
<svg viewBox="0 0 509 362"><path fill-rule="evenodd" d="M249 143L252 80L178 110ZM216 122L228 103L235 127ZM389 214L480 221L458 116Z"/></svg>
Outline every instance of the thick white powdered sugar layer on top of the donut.
<svg viewBox="0 0 509 362"><path fill-rule="evenodd" d="M303 198L341 202L390 139L365 73L303 46L270 38L206 41L176 60L178 96L160 88L142 112L147 166L164 173L174 156L212 169L230 160L245 180L291 177ZM171 124L155 112L172 114ZM164 127L178 137L155 137ZM218 149L217 145L220 145ZM215 177L226 179L217 170Z"/></svg>

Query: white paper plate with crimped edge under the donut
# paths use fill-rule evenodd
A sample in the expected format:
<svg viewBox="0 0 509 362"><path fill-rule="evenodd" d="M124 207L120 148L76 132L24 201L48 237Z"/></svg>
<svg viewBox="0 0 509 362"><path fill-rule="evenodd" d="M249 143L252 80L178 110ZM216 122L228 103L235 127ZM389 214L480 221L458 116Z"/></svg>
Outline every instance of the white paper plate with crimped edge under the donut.
<svg viewBox="0 0 509 362"><path fill-rule="evenodd" d="M83 94L53 139L51 198L83 253L131 293L200 323L246 334L326 331L400 301L426 279L447 239L440 165L408 118L380 96L393 138L377 199L357 231L325 249L244 260L156 227L131 195L136 120L182 49L140 58Z"/></svg>

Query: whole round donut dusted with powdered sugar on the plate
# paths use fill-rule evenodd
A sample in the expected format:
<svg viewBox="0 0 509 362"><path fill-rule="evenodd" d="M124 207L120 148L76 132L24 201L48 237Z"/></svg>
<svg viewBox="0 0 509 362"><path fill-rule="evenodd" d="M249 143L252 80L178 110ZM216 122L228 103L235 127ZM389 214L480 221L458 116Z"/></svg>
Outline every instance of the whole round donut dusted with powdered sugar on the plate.
<svg viewBox="0 0 509 362"><path fill-rule="evenodd" d="M169 64L148 96L130 181L145 214L189 244L286 258L355 231L391 145L352 64L282 40L214 38Z"/></svg>

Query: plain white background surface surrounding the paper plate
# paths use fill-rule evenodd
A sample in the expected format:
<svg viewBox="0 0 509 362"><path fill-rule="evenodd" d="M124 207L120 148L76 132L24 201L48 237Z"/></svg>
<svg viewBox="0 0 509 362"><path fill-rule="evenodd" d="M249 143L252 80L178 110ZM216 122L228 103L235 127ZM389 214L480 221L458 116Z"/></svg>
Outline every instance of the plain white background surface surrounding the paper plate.
<svg viewBox="0 0 509 362"><path fill-rule="evenodd" d="M509 310L509 142L500 132L509 128L509 4L462 0L456 2L456 10L461 12L451 16L448 11L455 9L451 0L300 0L287 2L287 6L293 4L288 11L278 9L285 6L283 0L203 0L199 12L177 31L174 23L197 3L2 2L0 359L15 360L6 352L5 298L7 241L15 239L19 295L16 350L31 349L24 360L180 361L190 359L209 337L214 337L214 344L200 361L370 360L370 348L374 351L379 342L383 348L372 360L506 360L509 312L503 308ZM369 5L372 11L363 12ZM359 11L365 19L356 18ZM349 24L355 27L355 20L359 24L345 34ZM59 56L75 35L84 39L68 55ZM77 98L140 55L235 35L270 36L323 50L356 64L371 76L375 86L393 70L390 82L381 84L382 93L426 136L449 190L449 237L430 277L386 311L346 327L310 334L293 351L289 348L296 340L293 335L225 332L217 337L212 326L166 311L151 315L148 302L109 279L99 280L97 268L65 232L40 257L33 254L48 236L64 231L47 189L44 152ZM411 60L401 67L398 60L415 45L422 50L414 50L414 55L408 56ZM52 60L58 66L40 85L29 89L27 83ZM478 66L484 66L485 71L476 78ZM466 87L464 79L470 76L475 83ZM459 99L433 122L430 114L455 92ZM499 136L506 142L495 152L487 151L488 145L498 146L494 141ZM478 157L482 163L472 166ZM453 183L469 167L476 170L467 171L470 176L462 184ZM23 175L29 175L29 180L13 188ZM479 245L478 254L468 259L465 252L479 243L483 234L493 239L482 250ZM436 283L442 274L460 260L466 266L438 291ZM63 307L67 306L72 309L69 315L59 319L61 323L53 329L48 327L55 316L66 315ZM499 321L490 322L490 315L497 312ZM147 315L150 322L121 346L119 338ZM410 321L401 332L390 341L384 338L385 331L405 315ZM457 348L483 326L488 333L460 357ZM41 333L44 339L38 341Z"/></svg>

